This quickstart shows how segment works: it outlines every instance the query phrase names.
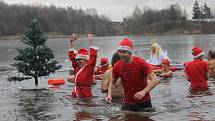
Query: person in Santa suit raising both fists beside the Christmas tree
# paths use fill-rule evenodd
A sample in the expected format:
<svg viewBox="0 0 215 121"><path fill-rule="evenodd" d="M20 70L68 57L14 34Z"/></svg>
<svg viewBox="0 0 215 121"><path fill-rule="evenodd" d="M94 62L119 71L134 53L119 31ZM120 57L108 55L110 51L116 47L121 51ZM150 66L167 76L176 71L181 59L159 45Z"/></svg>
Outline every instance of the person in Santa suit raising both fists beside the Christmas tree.
<svg viewBox="0 0 215 121"><path fill-rule="evenodd" d="M79 49L77 52L73 45L73 42L77 39L78 36L74 34L71 36L70 50L68 53L74 68L74 83L76 84L72 89L72 97L91 97L91 85L93 83L98 48L93 46L94 35L88 34L88 39L90 41L90 54L88 55L88 51L84 48Z"/></svg>

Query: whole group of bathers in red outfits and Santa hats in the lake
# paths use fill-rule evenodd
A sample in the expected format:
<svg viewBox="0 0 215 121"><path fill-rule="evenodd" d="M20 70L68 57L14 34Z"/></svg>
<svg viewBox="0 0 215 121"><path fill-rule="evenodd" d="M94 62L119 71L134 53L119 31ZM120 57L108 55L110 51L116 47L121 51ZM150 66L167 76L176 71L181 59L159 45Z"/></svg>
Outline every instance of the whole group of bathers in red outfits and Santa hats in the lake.
<svg viewBox="0 0 215 121"><path fill-rule="evenodd" d="M74 49L74 41L78 36L70 38L69 58L74 75L68 81L75 83L72 97L92 97L91 86L95 80L102 80L101 91L107 93L105 100L112 102L114 97L123 97L123 111L149 111L152 109L149 92L159 84L157 76L171 77L170 59L157 42L151 45L148 60L133 55L133 42L123 39L108 63L108 58L101 58L100 66L96 66L98 47L94 44L94 35L88 34L90 52L81 48ZM185 63L185 76L191 82L191 88L207 88L208 78L215 78L215 52L209 51L208 61L203 60L204 51L200 47L192 49L193 61ZM157 69L152 66L159 65Z"/></svg>

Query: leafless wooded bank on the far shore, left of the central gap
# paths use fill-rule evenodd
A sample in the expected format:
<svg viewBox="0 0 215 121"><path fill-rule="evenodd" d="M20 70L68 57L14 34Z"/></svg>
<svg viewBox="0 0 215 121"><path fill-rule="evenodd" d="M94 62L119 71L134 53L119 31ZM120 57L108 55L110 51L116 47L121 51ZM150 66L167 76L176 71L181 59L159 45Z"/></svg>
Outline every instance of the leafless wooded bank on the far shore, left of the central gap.
<svg viewBox="0 0 215 121"><path fill-rule="evenodd" d="M104 15L98 15L96 9L73 9L56 6L9 5L0 1L0 36L20 35L34 16L38 16L44 32L94 33L113 35L111 21Z"/></svg>

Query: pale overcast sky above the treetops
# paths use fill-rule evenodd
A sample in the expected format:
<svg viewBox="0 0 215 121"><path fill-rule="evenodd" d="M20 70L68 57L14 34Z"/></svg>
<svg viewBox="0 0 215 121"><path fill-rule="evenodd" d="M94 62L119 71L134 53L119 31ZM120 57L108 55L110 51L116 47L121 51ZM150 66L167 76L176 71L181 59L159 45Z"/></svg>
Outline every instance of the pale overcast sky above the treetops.
<svg viewBox="0 0 215 121"><path fill-rule="evenodd" d="M6 3L13 4L34 4L34 5L55 5L60 7L72 6L73 8L95 8L98 14L104 14L112 21L122 21L123 17L130 15L134 7L149 7L153 9L167 8L171 4L178 3L182 9L191 18L192 7L195 0L3 0ZM205 2L209 7L215 10L215 0L198 0L200 5Z"/></svg>

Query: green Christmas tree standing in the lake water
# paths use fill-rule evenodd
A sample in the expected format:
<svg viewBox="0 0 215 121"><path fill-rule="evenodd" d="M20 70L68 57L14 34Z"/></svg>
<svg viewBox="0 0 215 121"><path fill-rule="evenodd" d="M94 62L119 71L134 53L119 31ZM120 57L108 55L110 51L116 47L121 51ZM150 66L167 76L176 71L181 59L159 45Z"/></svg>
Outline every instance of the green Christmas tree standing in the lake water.
<svg viewBox="0 0 215 121"><path fill-rule="evenodd" d="M25 48L18 48L18 55L12 64L19 74L8 78L8 81L22 81L34 78L38 86L38 78L54 73L61 68L54 60L53 51L46 45L47 36L43 33L37 17L30 23L30 28L23 34L21 42Z"/></svg>

